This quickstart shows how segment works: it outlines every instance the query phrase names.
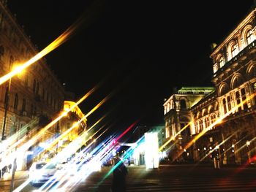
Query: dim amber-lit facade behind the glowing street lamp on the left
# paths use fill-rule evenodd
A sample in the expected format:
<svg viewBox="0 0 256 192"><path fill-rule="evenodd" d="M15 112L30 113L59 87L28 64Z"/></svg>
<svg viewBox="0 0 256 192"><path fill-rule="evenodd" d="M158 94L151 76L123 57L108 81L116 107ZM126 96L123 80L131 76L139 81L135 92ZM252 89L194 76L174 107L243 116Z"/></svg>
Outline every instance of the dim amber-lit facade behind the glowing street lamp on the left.
<svg viewBox="0 0 256 192"><path fill-rule="evenodd" d="M9 73L12 66L22 64L38 53L31 39L26 36L6 7L0 1L0 75ZM0 126L3 127L4 104L7 98L8 82L0 85ZM5 137L19 131L36 118L43 124L62 109L64 88L46 64L45 59L12 77L7 110ZM28 127L28 132L32 127ZM55 130L56 127L53 128ZM49 130L50 131L50 130ZM49 133L50 134L50 133Z"/></svg>

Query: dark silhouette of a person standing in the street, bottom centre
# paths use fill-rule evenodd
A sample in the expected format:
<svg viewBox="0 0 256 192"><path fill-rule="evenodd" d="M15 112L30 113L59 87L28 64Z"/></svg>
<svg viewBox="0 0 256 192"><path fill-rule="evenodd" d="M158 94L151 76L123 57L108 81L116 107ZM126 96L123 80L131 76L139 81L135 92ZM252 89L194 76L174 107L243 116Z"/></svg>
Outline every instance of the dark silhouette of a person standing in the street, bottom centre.
<svg viewBox="0 0 256 192"><path fill-rule="evenodd" d="M112 192L125 192L126 191L126 176L127 167L120 158L116 158L115 166L113 170L113 180L112 180Z"/></svg>

